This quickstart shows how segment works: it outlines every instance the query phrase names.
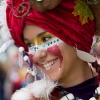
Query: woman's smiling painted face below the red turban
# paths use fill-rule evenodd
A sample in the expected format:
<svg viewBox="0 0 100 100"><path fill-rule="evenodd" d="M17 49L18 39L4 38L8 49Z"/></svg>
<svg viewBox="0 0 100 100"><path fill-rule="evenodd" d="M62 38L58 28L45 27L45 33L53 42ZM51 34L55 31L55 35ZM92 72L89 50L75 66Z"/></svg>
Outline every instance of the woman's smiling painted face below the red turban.
<svg viewBox="0 0 100 100"><path fill-rule="evenodd" d="M23 37L31 60L51 80L66 80L76 72L78 57L73 47L33 25L25 26Z"/></svg>

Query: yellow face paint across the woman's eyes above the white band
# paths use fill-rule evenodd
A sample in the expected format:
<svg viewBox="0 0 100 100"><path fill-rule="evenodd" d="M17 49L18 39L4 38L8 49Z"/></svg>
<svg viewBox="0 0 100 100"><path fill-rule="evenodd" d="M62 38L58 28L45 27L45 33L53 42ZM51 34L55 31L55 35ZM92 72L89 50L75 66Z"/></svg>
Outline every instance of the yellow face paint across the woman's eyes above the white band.
<svg viewBox="0 0 100 100"><path fill-rule="evenodd" d="M35 45L41 45L45 42L47 42L49 39L55 37L54 35L50 34L49 32L43 33L40 36L36 37L34 40L31 41L25 41L26 44L33 44Z"/></svg>

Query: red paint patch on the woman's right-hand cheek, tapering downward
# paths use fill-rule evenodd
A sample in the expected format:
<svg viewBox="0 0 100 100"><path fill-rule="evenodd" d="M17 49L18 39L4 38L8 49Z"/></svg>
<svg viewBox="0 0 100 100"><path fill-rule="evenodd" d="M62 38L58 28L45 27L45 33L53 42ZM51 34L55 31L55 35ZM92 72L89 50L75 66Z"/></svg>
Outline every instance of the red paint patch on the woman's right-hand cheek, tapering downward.
<svg viewBox="0 0 100 100"><path fill-rule="evenodd" d="M53 46L47 48L47 51L60 58L60 68L61 68L62 61L63 61L63 56L61 54L59 46L58 45L53 45Z"/></svg>

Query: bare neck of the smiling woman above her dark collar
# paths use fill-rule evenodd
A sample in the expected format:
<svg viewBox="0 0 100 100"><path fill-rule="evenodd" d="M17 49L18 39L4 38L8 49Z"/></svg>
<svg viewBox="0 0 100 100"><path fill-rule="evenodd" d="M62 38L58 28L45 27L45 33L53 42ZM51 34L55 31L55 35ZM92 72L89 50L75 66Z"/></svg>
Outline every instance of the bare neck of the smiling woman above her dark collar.
<svg viewBox="0 0 100 100"><path fill-rule="evenodd" d="M76 64L73 67L70 74L59 80L58 82L61 86L67 88L80 84L96 75L97 74L95 72L93 72L92 75L92 71L88 63L80 60L80 62L78 62L78 65Z"/></svg>

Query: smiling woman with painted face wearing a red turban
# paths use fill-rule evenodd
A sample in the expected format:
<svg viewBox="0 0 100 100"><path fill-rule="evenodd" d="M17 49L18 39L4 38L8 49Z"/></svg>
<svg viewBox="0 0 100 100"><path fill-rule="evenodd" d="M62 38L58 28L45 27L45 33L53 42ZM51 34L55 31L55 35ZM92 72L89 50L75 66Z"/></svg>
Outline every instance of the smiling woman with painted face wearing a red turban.
<svg viewBox="0 0 100 100"><path fill-rule="evenodd" d="M99 65L89 54L95 23L86 1L8 0L6 17L7 43L14 39L28 73L41 78L11 100L99 100Z"/></svg>

